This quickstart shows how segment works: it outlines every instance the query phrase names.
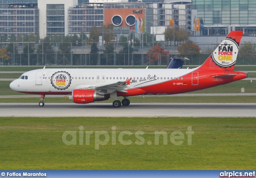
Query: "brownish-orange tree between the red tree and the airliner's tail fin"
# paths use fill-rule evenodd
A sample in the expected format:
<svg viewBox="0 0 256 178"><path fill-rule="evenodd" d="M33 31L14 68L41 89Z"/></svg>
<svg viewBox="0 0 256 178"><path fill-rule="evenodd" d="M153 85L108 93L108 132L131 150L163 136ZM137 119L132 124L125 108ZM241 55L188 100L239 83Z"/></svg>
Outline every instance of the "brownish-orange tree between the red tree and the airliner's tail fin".
<svg viewBox="0 0 256 178"><path fill-rule="evenodd" d="M181 44L177 50L181 57L193 57L200 54L200 47L191 40L187 40L185 43Z"/></svg>

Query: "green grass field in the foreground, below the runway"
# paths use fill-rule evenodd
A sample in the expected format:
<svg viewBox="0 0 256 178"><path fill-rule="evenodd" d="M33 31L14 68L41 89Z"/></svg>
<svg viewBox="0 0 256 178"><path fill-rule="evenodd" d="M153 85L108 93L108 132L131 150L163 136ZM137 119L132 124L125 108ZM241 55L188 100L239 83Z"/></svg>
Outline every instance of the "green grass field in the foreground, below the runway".
<svg viewBox="0 0 256 178"><path fill-rule="evenodd" d="M79 136L79 126L83 126ZM116 145L112 145L112 126L116 126ZM0 168L2 170L255 170L255 118L34 118L0 117ZM192 127L192 145L186 131ZM62 134L76 131L76 145L65 145ZM86 131L90 145L86 145ZM95 150L95 131L106 131L110 141ZM118 139L124 135L122 145ZM145 141L135 137L143 131ZM155 145L155 131L166 131ZM181 145L170 141L173 131L181 131ZM80 138L80 139L79 139ZM71 135L66 137L72 140ZM80 142L80 140L84 141ZM142 141L136 145L135 141ZM152 141L152 145L148 145ZM80 145L80 143L82 145Z"/></svg>

